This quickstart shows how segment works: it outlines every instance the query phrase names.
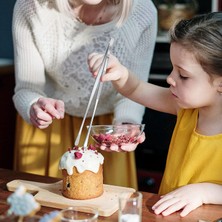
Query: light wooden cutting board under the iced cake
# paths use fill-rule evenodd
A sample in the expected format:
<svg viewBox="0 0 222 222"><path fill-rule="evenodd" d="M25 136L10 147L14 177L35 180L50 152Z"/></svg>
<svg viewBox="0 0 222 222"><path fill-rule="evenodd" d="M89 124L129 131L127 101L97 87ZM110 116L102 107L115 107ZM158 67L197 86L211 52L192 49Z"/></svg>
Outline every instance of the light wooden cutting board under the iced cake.
<svg viewBox="0 0 222 222"><path fill-rule="evenodd" d="M108 217L118 210L118 197L125 194L130 197L135 191L133 188L112 186L104 184L104 193L97 198L89 200L72 200L62 195L62 181L56 183L39 183L27 180L13 180L7 183L9 191L15 191L24 185L27 192L36 193L35 200L42 206L64 209L70 206L88 206L97 208L100 216Z"/></svg>

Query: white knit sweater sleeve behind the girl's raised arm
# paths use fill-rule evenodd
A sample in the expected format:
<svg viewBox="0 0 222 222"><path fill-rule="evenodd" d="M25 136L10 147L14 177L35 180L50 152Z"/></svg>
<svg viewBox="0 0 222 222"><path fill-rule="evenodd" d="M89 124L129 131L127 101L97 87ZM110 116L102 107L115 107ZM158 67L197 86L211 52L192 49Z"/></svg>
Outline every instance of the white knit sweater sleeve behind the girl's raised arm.
<svg viewBox="0 0 222 222"><path fill-rule="evenodd" d="M131 52L126 55L126 59L118 54L116 56L139 79L148 81L157 35L157 11L152 1L138 0L137 9L132 17L125 27L125 38ZM140 33L136 42L135 32ZM118 94L114 107L114 122L142 122L144 106Z"/></svg>

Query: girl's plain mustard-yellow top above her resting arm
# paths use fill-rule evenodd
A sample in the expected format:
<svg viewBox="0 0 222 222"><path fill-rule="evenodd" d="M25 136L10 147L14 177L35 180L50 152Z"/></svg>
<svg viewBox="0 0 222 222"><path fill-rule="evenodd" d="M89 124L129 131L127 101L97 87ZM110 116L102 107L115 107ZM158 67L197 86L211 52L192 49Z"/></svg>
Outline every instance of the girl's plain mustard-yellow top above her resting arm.
<svg viewBox="0 0 222 222"><path fill-rule="evenodd" d="M197 109L181 110L177 118L159 193L192 183L222 184L222 134L198 134Z"/></svg>

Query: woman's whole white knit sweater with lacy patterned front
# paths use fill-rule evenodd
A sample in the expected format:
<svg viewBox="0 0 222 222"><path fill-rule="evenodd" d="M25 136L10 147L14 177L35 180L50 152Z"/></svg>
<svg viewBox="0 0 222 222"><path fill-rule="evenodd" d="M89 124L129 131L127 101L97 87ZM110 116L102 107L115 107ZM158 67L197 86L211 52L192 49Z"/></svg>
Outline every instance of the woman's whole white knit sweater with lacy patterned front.
<svg viewBox="0 0 222 222"><path fill-rule="evenodd" d="M111 37L111 53L147 81L156 33L157 12L151 0L134 0L130 17L119 29L113 22L90 26L72 19L58 12L54 0L17 0L13 15L17 111L30 122L33 102L50 97L63 100L66 113L82 117L95 81L88 55L104 53ZM123 98L108 82L96 115L112 112L116 122L139 123L144 107Z"/></svg>

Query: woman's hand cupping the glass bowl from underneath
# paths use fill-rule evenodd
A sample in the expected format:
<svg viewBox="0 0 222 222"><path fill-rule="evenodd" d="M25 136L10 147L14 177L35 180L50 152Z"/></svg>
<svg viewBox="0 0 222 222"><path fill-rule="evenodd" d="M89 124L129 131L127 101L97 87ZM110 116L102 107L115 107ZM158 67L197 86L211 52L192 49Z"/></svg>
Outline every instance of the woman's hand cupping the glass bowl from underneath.
<svg viewBox="0 0 222 222"><path fill-rule="evenodd" d="M145 140L145 133L142 133L141 136L138 137L137 142L136 143L125 143L122 144L121 146L118 146L116 144L112 144L109 148L105 145L102 144L100 146L101 150L105 150L107 152L131 152L134 151L136 149L136 147L138 146L138 144L142 143Z"/></svg>

